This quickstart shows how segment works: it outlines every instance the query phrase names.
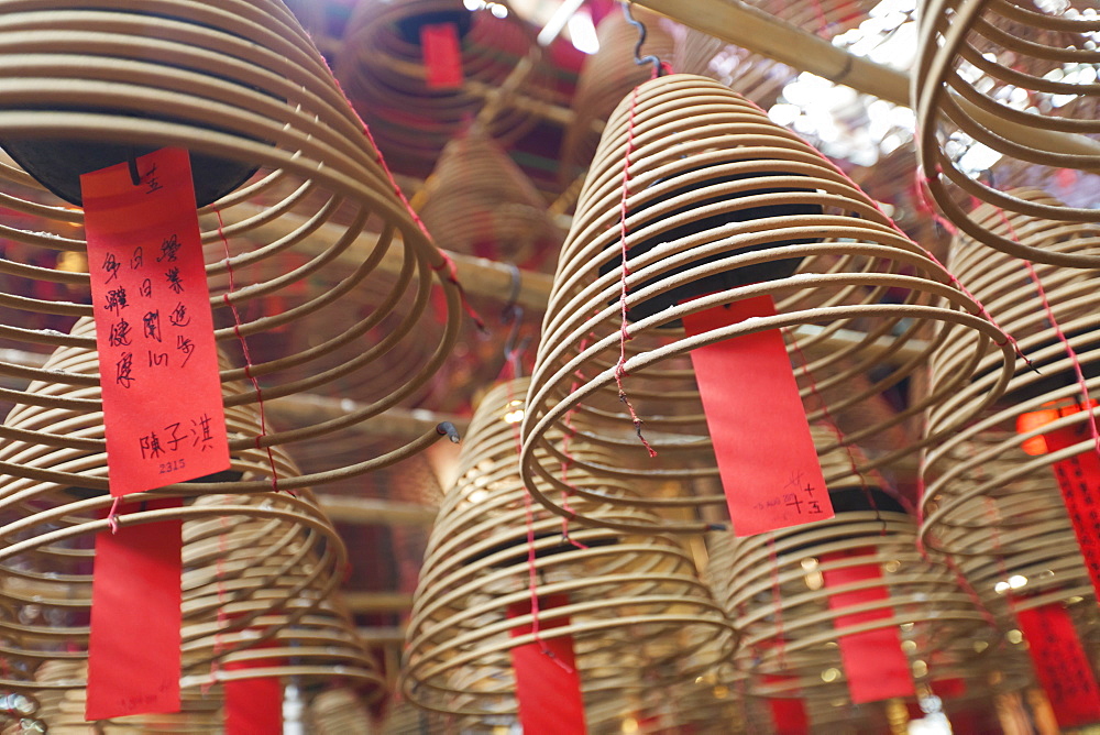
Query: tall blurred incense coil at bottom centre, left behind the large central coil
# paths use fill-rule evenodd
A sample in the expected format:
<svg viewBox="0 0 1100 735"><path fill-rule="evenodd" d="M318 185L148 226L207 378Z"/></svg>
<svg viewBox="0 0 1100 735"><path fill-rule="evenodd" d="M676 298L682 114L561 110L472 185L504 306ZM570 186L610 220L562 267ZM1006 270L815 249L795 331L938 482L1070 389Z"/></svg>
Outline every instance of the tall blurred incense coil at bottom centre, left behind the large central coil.
<svg viewBox="0 0 1100 735"><path fill-rule="evenodd" d="M539 599L560 603L543 602L539 637L571 636L586 707L640 682L660 688L702 676L728 657L733 641L678 544L591 528L570 529L571 544L561 537L561 520L541 509L530 511L528 531L515 425L526 383L497 386L474 415L414 597L402 692L437 712L514 715L509 651L535 638L519 630L531 625L529 610L509 616L509 608L530 603L532 573ZM586 453L578 448L580 457ZM574 471L566 479L591 481ZM615 481L605 484L606 492L628 492ZM606 504L588 512L642 513Z"/></svg>

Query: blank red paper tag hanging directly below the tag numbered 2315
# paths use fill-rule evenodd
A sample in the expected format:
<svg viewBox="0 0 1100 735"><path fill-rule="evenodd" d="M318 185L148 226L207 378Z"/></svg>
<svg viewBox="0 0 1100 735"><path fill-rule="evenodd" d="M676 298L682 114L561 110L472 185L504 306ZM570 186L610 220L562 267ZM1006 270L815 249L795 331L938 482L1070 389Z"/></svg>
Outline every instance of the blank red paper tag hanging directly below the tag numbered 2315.
<svg viewBox="0 0 1100 735"><path fill-rule="evenodd" d="M123 513L135 506L123 505ZM179 711L182 527L179 520L128 526L123 516L117 534L96 535L87 720Z"/></svg>

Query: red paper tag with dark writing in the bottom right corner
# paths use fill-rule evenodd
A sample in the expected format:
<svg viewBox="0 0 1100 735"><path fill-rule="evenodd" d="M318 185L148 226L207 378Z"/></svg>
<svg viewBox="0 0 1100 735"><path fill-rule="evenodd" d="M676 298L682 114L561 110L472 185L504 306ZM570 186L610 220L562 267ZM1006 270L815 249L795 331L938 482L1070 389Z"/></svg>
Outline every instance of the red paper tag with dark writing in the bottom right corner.
<svg viewBox="0 0 1100 735"><path fill-rule="evenodd" d="M1016 621L1058 726L1100 722L1100 688L1066 608L1053 603L1021 610Z"/></svg>

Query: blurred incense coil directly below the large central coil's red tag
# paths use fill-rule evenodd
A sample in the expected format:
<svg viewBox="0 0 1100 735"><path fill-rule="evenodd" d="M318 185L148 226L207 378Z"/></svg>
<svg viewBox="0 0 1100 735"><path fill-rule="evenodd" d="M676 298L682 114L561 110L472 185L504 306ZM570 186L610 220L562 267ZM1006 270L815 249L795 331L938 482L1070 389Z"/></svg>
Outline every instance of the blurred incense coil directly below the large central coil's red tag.
<svg viewBox="0 0 1100 735"><path fill-rule="evenodd" d="M744 636L738 660L748 667L747 692L752 695L849 701L835 643L846 634L898 629L917 684L930 676L956 676L939 661L972 658L976 641L989 647L1000 635L950 569L921 556L916 526L903 513L838 512L834 519L809 526L708 538L707 573L728 580L722 599ZM853 551L858 556L844 556ZM829 607L831 595L868 584L825 584L826 574L853 563L880 569L889 594L861 601L859 607L886 612L882 617L845 621L844 607Z"/></svg>

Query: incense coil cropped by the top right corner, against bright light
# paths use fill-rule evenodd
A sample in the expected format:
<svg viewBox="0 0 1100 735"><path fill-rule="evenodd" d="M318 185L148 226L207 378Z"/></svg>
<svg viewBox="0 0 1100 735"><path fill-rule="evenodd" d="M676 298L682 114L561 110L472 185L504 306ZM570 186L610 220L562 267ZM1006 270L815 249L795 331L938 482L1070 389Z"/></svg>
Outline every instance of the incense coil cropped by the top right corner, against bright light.
<svg viewBox="0 0 1100 735"><path fill-rule="evenodd" d="M1100 20L1074 4L1050 12L1028 0L928 0L921 12L914 107L928 189L964 232L1018 257L1094 268L1100 251L1092 237L1050 250L991 231L979 211L988 204L1053 227L1100 222L1093 194L1100 57L1090 41ZM967 155L971 146L997 162L988 176ZM1085 172L1072 206L1008 190L1021 173L1047 188L1072 169Z"/></svg>

